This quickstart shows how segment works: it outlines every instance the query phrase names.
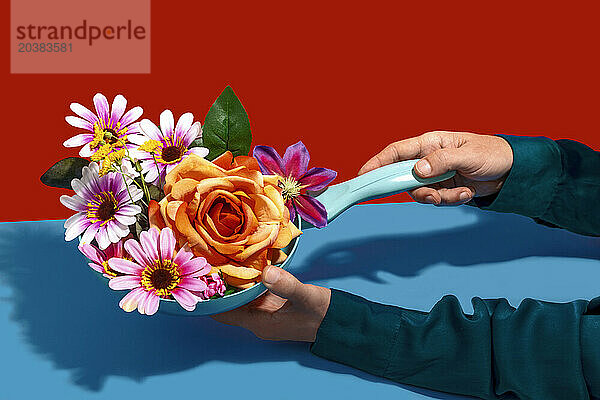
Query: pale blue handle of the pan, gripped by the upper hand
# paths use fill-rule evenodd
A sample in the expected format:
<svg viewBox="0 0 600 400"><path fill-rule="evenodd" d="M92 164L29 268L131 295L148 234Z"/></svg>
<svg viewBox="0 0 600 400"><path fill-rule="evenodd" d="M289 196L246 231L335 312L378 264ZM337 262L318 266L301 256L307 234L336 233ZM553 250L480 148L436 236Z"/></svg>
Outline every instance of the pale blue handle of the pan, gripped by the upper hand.
<svg viewBox="0 0 600 400"><path fill-rule="evenodd" d="M377 168L349 181L329 186L315 198L325 206L327 220L331 222L354 204L445 181L456 173L450 171L434 178L422 179L413 172L417 161L419 160L401 161ZM302 225L303 229L312 227L306 226L310 224L305 221Z"/></svg>

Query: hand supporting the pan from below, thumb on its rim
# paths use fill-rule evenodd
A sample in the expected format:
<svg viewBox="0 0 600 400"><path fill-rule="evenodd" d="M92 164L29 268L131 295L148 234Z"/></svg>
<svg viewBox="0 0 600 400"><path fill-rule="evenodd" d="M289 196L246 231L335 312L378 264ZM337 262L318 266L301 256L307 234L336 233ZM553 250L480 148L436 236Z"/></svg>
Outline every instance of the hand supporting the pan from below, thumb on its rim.
<svg viewBox="0 0 600 400"><path fill-rule="evenodd" d="M314 342L325 317L331 290L300 282L289 272L269 266L263 271L267 293L245 306L213 315L266 340Z"/></svg>

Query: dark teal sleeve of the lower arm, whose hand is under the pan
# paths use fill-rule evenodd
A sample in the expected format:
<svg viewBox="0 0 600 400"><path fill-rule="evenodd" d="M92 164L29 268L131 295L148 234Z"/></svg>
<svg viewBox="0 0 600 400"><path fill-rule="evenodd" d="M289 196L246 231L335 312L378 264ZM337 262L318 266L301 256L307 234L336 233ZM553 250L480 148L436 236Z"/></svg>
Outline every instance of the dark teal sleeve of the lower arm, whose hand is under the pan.
<svg viewBox="0 0 600 400"><path fill-rule="evenodd" d="M311 351L399 383L483 399L600 396L600 316L594 302L472 300L429 312L332 290Z"/></svg>

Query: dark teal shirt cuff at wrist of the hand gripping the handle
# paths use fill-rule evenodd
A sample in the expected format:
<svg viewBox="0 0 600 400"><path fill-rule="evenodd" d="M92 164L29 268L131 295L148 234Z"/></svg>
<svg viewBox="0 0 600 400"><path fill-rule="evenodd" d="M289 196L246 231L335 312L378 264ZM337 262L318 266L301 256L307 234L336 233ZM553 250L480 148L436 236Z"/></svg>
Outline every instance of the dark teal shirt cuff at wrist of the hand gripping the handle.
<svg viewBox="0 0 600 400"><path fill-rule="evenodd" d="M510 144L513 165L500 192L478 199L474 205L532 218L544 215L562 176L558 145L546 137L497 136Z"/></svg>

